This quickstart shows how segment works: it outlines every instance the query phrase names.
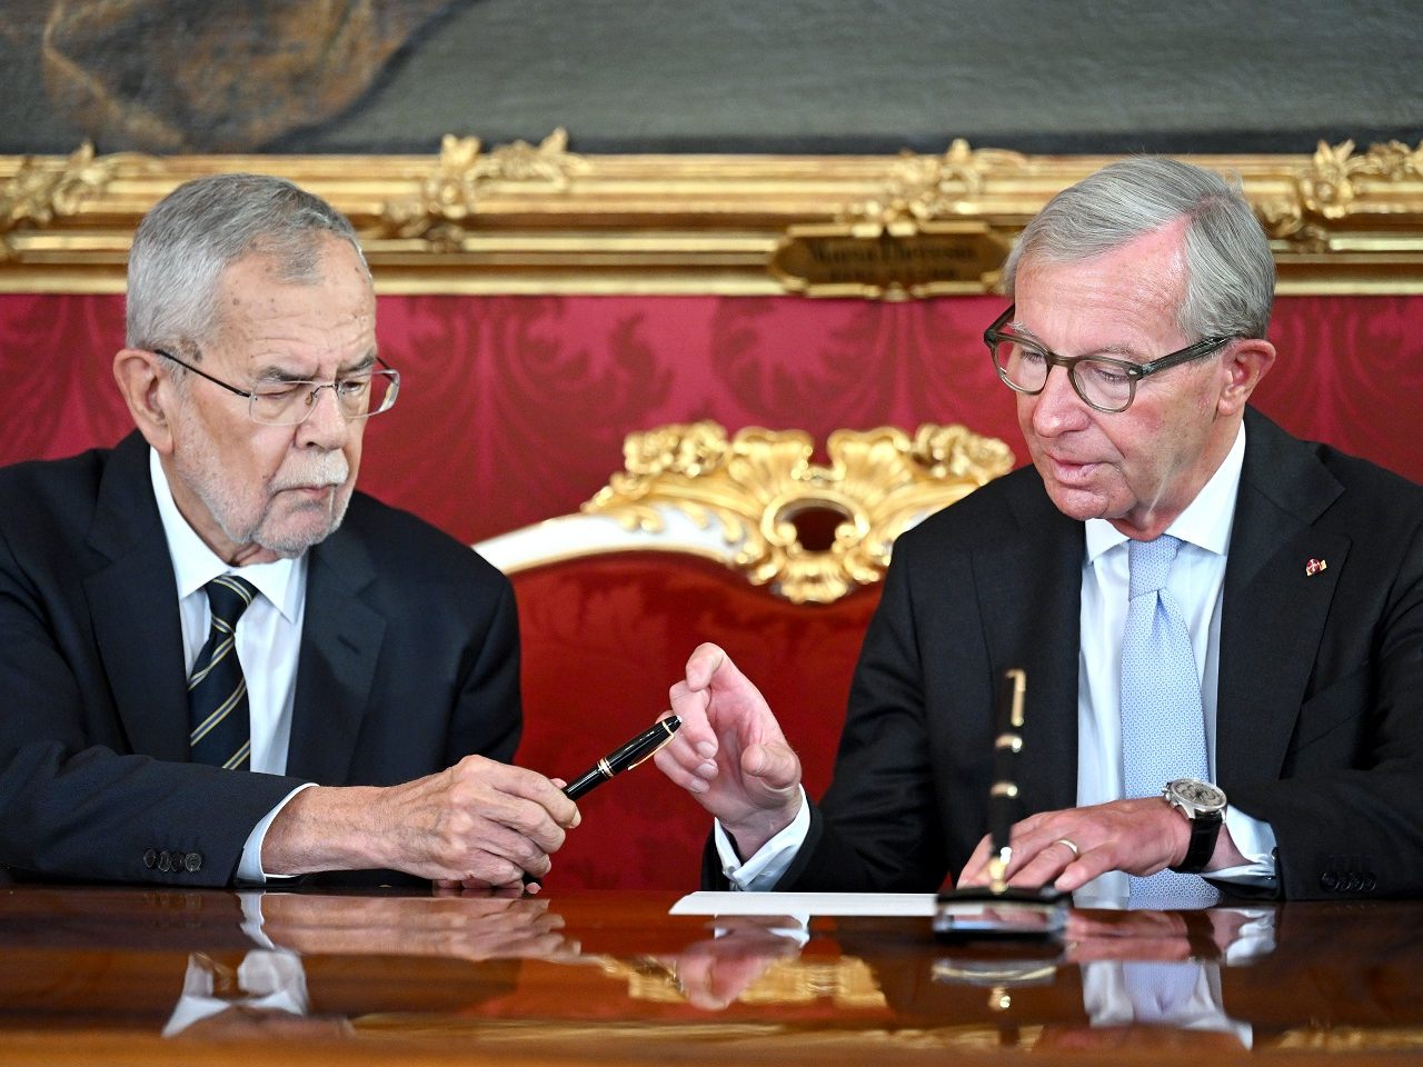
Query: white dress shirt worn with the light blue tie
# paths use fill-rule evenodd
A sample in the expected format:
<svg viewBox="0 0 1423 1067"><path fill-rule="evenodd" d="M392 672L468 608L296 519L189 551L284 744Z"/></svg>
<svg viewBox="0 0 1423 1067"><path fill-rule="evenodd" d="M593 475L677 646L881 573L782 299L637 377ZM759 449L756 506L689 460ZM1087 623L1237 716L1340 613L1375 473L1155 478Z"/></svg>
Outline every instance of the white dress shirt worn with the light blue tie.
<svg viewBox="0 0 1423 1067"><path fill-rule="evenodd" d="M1167 534L1183 541L1167 580L1185 613L1201 674L1207 758L1215 774L1217 673L1221 644L1221 593L1225 555L1235 518L1235 497L1245 462L1245 427L1211 479L1201 488ZM1121 636L1127 625L1127 538L1104 519L1089 519L1087 553L1081 569L1081 650L1077 679L1077 804L1121 798ZM1161 782L1165 785L1165 782ZM744 864L717 822L713 838L721 869L737 889L764 891L776 885L810 831L801 794L797 819ZM1269 824L1227 808L1225 825L1247 866L1212 871L1211 878L1269 885L1275 878L1275 834ZM1083 906L1124 906L1127 875L1113 871L1081 886Z"/></svg>

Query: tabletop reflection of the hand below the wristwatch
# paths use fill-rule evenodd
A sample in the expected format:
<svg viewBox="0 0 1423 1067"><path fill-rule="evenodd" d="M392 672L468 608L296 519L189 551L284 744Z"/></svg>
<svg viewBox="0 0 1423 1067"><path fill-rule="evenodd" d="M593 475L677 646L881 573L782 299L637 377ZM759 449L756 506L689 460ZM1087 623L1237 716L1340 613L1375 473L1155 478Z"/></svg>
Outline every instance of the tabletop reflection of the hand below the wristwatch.
<svg viewBox="0 0 1423 1067"><path fill-rule="evenodd" d="M1220 959L1249 916L1229 908L1198 912L1073 911L1064 962Z"/></svg>

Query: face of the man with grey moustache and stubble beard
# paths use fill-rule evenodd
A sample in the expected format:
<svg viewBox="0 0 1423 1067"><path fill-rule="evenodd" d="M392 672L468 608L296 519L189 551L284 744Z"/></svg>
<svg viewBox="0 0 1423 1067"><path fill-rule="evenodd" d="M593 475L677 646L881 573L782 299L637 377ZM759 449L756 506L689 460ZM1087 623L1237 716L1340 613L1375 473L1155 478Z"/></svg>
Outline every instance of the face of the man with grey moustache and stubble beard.
<svg viewBox="0 0 1423 1067"><path fill-rule="evenodd" d="M253 253L223 273L219 326L198 366L249 390L270 378L332 381L370 368L376 357L376 297L354 249L327 238L314 285L282 280ZM176 396L174 499L223 559L238 563L296 556L334 531L360 469L366 421L350 423L332 390L297 425L262 425L248 401L188 374Z"/></svg>

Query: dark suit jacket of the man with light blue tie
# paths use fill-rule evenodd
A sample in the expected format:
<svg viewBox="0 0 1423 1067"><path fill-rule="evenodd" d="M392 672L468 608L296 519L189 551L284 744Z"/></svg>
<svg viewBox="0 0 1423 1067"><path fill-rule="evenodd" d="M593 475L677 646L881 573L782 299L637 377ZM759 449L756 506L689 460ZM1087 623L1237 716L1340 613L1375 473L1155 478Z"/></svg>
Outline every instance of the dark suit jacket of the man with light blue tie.
<svg viewBox="0 0 1423 1067"><path fill-rule="evenodd" d="M1274 827L1285 896L1423 893L1423 491L1254 411L1245 441L1217 778ZM778 888L958 874L988 829L1007 667L1027 671L1025 811L1076 805L1084 551L1032 468L899 538L834 782Z"/></svg>

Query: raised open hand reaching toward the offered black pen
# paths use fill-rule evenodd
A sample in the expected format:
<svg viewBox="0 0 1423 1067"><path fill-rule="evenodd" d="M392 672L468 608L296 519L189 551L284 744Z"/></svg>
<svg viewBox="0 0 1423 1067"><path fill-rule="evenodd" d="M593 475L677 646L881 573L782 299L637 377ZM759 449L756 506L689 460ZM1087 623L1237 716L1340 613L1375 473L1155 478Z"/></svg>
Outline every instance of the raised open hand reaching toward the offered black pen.
<svg viewBox="0 0 1423 1067"><path fill-rule="evenodd" d="M800 811L800 760L751 681L716 644L700 644L672 687L682 728L656 764L721 821L743 856Z"/></svg>

